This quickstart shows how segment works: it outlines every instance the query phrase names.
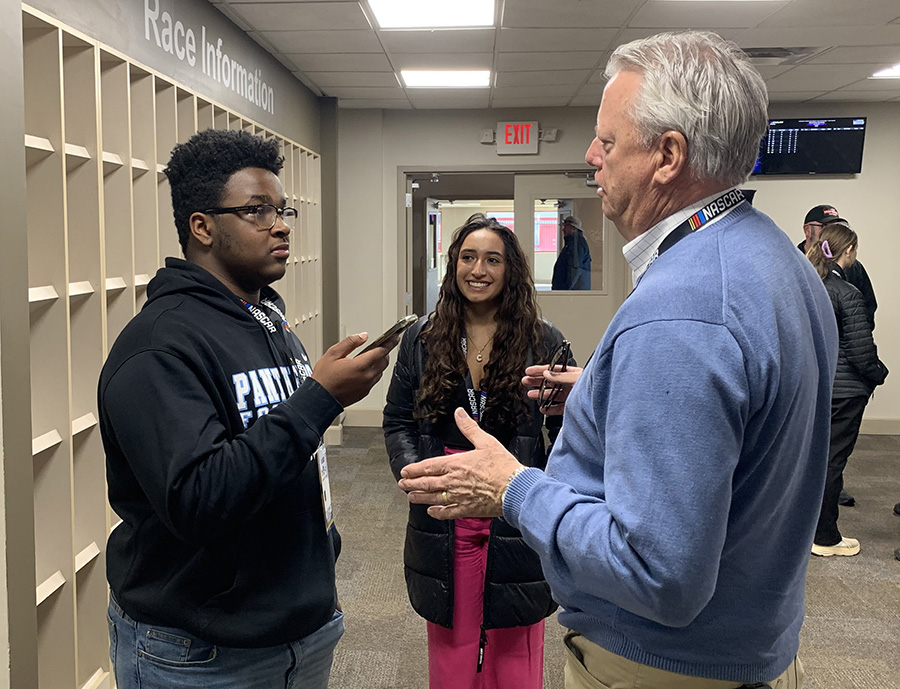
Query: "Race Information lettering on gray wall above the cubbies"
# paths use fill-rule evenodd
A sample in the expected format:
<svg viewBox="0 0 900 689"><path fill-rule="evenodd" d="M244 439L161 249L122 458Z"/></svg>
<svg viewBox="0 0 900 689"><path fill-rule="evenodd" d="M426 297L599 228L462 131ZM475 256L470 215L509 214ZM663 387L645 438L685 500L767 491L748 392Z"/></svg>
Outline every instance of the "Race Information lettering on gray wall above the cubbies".
<svg viewBox="0 0 900 689"><path fill-rule="evenodd" d="M198 44L197 34L192 28L185 27L183 22L174 19L168 12L160 12L159 0L144 0L144 38L193 68L197 66L199 50L203 74L255 106L275 114L275 90L263 81L262 70L248 69L231 59L224 50L221 38L207 36L205 25L200 26Z"/></svg>

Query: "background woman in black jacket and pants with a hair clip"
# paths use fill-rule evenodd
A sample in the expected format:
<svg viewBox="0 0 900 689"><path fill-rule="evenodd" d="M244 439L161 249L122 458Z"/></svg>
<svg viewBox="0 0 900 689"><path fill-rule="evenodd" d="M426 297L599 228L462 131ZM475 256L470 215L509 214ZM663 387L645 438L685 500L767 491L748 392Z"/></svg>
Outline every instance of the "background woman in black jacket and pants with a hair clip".
<svg viewBox="0 0 900 689"><path fill-rule="evenodd" d="M838 529L838 496L844 485L844 467L856 445L866 404L888 373L878 358L863 296L844 278L846 270L856 262L858 249L856 232L841 220L827 223L806 253L831 298L840 334L831 399L828 474L812 545L813 555L823 557L859 552L859 541L842 537Z"/></svg>

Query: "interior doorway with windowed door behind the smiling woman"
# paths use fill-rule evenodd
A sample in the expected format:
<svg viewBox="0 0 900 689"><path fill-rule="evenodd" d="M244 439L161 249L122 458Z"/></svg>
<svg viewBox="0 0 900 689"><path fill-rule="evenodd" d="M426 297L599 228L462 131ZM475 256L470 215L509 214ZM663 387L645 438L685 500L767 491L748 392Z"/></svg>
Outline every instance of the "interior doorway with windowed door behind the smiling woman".
<svg viewBox="0 0 900 689"><path fill-rule="evenodd" d="M538 304L556 324L583 363L630 290L624 244L603 218L596 189L584 173L431 173L408 175L411 227L412 311L430 313L446 270L446 249L456 228L476 212L496 217L513 229L532 269ZM590 277L577 290L553 288L552 274L571 241L563 219L574 216L589 248ZM565 290L565 291L561 291Z"/></svg>

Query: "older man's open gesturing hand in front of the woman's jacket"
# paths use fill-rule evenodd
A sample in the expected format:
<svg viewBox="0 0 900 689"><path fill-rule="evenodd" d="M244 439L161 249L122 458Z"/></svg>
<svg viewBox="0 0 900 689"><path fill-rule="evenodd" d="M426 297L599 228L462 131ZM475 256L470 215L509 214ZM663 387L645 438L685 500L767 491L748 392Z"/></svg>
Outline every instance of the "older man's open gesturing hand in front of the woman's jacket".
<svg viewBox="0 0 900 689"><path fill-rule="evenodd" d="M522 465L463 409L457 408L454 418L475 449L409 464L399 485L410 502L431 505L428 514L435 519L500 517L503 489Z"/></svg>

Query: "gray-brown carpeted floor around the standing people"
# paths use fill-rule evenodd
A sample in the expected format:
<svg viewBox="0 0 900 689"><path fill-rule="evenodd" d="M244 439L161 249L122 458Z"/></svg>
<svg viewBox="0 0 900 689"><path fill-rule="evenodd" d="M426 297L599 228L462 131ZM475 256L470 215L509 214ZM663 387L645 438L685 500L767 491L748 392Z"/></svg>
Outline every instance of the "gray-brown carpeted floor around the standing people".
<svg viewBox="0 0 900 689"><path fill-rule="evenodd" d="M338 591L346 634L333 689L427 689L425 622L409 606L402 550L406 496L388 468L380 429L345 429L328 448L337 524L343 537ZM900 686L900 437L860 436L845 471L857 506L841 508L852 558L811 557L800 654L806 689ZM547 620L545 689L563 689L562 628ZM510 689L515 689L511 687Z"/></svg>

